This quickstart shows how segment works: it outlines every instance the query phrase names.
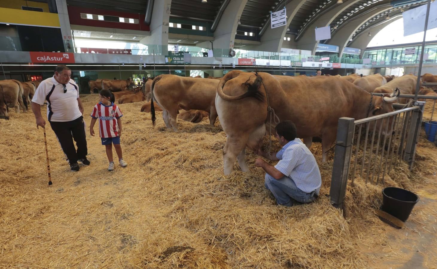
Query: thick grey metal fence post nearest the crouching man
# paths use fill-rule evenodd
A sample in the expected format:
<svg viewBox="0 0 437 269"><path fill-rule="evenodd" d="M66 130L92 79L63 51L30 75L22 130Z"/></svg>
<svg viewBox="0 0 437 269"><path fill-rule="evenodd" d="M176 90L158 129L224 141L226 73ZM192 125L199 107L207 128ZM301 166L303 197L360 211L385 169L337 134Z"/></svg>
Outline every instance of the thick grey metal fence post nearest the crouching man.
<svg viewBox="0 0 437 269"><path fill-rule="evenodd" d="M355 129L354 121L355 119L350 117L338 119L331 189L329 190L331 204L337 208L343 208L344 197L346 195L350 153L352 151L352 139L354 138Z"/></svg>

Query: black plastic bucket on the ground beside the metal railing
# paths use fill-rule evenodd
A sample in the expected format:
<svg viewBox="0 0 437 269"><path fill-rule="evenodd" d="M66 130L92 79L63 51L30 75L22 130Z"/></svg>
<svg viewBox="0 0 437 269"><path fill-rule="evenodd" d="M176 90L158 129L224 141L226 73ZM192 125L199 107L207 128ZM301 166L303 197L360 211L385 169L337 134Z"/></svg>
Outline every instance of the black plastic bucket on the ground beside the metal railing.
<svg viewBox="0 0 437 269"><path fill-rule="evenodd" d="M387 187L382 190L381 210L406 221L413 210L414 205L419 202L419 197L408 190Z"/></svg>

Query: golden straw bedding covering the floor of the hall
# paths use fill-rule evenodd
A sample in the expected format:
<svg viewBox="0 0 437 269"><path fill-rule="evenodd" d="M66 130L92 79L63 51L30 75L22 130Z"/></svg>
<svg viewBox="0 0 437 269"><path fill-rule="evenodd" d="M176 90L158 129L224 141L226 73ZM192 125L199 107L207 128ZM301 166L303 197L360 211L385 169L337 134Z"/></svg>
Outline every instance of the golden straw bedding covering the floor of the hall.
<svg viewBox="0 0 437 269"><path fill-rule="evenodd" d="M86 114L97 99L83 97ZM207 118L199 124L178 121L180 133L174 133L158 113L152 128L150 115L139 112L141 105L120 105L128 167L116 164L114 172L107 171L100 139L89 135L91 165L70 172L54 133L46 128L50 187L43 134L33 114L12 112L11 120L0 120L0 266L371 267L366 250L387 240L386 226L375 215L382 186L356 179L347 189L344 218L325 196L330 152L331 161L319 163L319 199L277 206L264 190L264 172L254 166L252 153L246 153L251 173L240 172L236 163L236 171L223 176L226 137L219 124L212 127ZM85 121L88 127L88 116ZM280 148L276 142L273 147ZM434 150L426 141L420 147ZM313 143L311 150L319 161L320 144ZM419 187L418 178L428 172L423 167L430 165L420 151L423 159L413 173L405 166L386 184Z"/></svg>

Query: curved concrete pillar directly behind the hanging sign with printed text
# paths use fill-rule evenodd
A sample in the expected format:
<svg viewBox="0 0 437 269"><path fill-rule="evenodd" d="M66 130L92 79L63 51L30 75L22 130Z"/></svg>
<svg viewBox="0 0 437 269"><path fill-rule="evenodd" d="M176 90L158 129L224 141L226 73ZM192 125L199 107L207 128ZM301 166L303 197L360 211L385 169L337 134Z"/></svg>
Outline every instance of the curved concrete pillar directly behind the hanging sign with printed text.
<svg viewBox="0 0 437 269"><path fill-rule="evenodd" d="M287 24L282 27L271 28L271 21L267 20L268 27L264 34L261 36L261 45L250 46L248 49L264 51L264 52L280 52L282 43L284 41L285 33L287 32L288 25L295 17L299 8L305 3L305 0L292 0L285 8L287 9ZM285 47L284 47L285 48ZM293 41L287 41L286 48L295 48Z"/></svg>

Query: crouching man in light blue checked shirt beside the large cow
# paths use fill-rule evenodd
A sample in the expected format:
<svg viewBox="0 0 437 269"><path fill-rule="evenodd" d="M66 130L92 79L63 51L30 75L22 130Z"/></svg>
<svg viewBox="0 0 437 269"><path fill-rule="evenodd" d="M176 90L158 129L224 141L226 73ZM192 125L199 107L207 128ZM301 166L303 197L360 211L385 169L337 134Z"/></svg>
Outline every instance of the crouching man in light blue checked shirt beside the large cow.
<svg viewBox="0 0 437 269"><path fill-rule="evenodd" d="M282 148L275 154L261 149L257 154L272 161L271 166L261 158L255 165L266 171L265 186L273 193L279 205L291 207L295 201L311 203L319 196L322 178L314 155L296 138L296 126L291 121L282 121L275 127L276 138Z"/></svg>

